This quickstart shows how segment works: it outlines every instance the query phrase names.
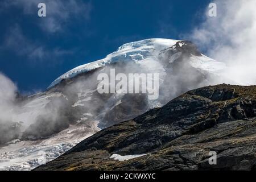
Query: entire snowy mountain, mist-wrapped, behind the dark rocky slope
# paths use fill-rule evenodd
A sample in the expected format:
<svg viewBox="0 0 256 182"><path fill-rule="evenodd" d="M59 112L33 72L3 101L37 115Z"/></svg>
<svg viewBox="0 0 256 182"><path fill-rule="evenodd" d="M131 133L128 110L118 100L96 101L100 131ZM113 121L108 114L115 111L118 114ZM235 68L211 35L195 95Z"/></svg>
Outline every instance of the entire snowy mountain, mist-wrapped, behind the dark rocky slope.
<svg viewBox="0 0 256 182"><path fill-rule="evenodd" d="M124 75L158 73L159 97L100 94L97 77L110 75L111 69ZM188 41L146 39L123 44L104 59L64 73L46 92L16 101L9 122L14 132L9 135L5 129L0 133L4 139L0 140L0 169L39 166L39 150L45 152L46 161L55 159L101 129L162 107L188 90L214 84L223 69L223 63L204 56Z"/></svg>

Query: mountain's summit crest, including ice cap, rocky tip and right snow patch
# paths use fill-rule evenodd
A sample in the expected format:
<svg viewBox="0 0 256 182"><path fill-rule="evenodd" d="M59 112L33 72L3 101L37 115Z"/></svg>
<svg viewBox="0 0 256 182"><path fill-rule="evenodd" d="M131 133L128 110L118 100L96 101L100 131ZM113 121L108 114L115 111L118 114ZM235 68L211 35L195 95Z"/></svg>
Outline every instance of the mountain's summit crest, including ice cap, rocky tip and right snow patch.
<svg viewBox="0 0 256 182"><path fill-rule="evenodd" d="M223 63L201 54L192 42L172 39L146 39L123 44L117 51L110 53L104 59L80 65L64 73L56 78L56 80L49 85L48 89L59 84L62 80L75 77L80 73L89 72L96 68L104 67L107 64L114 64L118 61L135 61L139 63L139 61L147 61L147 59L159 60L159 56L164 56L166 52L168 52L166 56L168 56L170 61L174 61L175 58L177 59L181 53L193 57L191 65L201 69L201 71L217 72L225 67Z"/></svg>

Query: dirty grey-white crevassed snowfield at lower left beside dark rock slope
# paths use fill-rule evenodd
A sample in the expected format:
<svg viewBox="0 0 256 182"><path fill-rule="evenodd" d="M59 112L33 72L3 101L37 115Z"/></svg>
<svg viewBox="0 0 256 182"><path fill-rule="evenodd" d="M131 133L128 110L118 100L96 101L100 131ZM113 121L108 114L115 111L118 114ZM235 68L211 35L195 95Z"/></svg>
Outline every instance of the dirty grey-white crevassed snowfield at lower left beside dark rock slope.
<svg viewBox="0 0 256 182"><path fill-rule="evenodd" d="M96 121L93 121L92 124L94 125L93 129L88 129L86 126L70 126L44 140L14 140L0 148L0 170L31 170L56 159L81 140L100 131Z"/></svg>

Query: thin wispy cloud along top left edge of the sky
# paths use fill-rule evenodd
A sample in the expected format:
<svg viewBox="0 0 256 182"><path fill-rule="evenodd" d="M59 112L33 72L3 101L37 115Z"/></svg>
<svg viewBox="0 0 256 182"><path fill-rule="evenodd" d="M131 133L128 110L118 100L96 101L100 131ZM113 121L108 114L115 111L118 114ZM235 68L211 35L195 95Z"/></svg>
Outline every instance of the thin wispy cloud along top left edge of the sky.
<svg viewBox="0 0 256 182"><path fill-rule="evenodd" d="M37 16L38 4L46 3L46 17L38 19L36 22L42 30L47 32L61 31L64 26L72 22L73 18L84 20L90 19L92 4L81 0L13 0L0 2L1 11L9 10L11 7L18 7L24 14Z"/></svg>

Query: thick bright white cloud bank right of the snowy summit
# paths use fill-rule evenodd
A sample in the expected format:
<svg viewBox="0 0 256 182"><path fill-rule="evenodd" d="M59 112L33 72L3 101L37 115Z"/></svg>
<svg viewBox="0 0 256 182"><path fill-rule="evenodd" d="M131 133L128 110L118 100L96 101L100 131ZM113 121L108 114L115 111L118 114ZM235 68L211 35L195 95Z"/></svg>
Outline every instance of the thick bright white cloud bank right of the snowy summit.
<svg viewBox="0 0 256 182"><path fill-rule="evenodd" d="M217 17L208 16L186 39L192 40L207 55L227 64L222 73L225 83L256 84L256 1L214 1Z"/></svg>

